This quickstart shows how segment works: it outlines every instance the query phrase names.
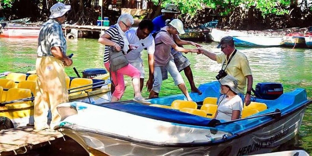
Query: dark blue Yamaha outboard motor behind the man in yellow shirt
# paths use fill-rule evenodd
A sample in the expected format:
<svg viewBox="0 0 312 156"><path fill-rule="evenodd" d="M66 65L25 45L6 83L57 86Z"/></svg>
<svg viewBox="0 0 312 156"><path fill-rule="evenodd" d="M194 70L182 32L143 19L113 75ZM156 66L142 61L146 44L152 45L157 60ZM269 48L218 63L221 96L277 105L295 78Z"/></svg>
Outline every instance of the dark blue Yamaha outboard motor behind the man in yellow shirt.
<svg viewBox="0 0 312 156"><path fill-rule="evenodd" d="M253 90L256 97L266 100L275 100L284 93L283 85L276 82L261 82L256 85Z"/></svg>

